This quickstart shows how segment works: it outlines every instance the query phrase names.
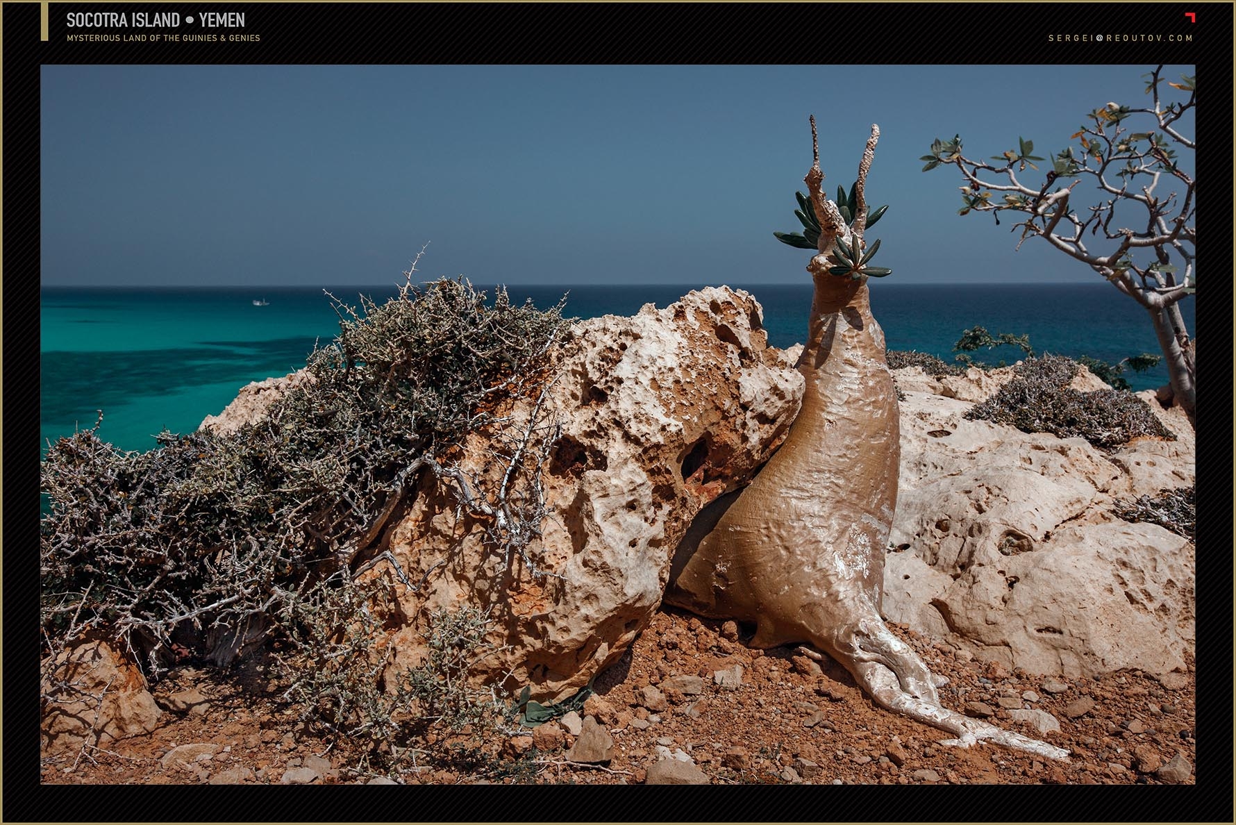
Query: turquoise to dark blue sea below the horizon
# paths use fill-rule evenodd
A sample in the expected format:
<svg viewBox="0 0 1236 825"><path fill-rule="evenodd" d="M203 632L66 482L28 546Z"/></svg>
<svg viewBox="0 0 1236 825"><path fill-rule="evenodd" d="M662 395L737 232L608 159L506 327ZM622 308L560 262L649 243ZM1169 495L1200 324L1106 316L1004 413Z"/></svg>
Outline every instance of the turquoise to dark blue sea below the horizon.
<svg viewBox="0 0 1236 825"><path fill-rule="evenodd" d="M764 307L775 346L802 340L811 284L737 284ZM480 288L480 284L478 284ZM509 287L512 299L549 307L567 294L566 314L629 315L645 303L665 307L692 286ZM378 302L396 288L332 288L357 304L360 293ZM492 294L492 292L491 292ZM267 306L253 306L265 299ZM1028 334L1037 353L1090 355L1115 362L1158 353L1146 312L1106 283L1088 284L885 284L873 283L871 308L889 349L931 353L953 360L953 344L974 325L993 334ZM1183 312L1192 334L1194 302ZM320 288L64 289L42 291L41 437L89 428L103 409L99 435L127 450L154 447L167 428L197 429L250 381L284 375L304 365L314 343L339 330L330 299ZM1010 362L1018 350L1001 346L974 354ZM1167 382L1162 367L1126 372L1136 390Z"/></svg>

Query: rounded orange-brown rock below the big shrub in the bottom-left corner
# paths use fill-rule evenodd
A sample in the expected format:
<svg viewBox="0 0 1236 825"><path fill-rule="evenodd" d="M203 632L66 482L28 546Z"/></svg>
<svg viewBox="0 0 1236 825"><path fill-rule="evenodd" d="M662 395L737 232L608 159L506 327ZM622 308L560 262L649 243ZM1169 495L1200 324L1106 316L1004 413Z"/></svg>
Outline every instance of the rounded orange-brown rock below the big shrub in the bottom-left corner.
<svg viewBox="0 0 1236 825"><path fill-rule="evenodd" d="M44 753L77 748L84 741L101 745L141 736L159 724L159 709L142 672L103 639L62 652L42 689L56 699L47 703L42 717Z"/></svg>

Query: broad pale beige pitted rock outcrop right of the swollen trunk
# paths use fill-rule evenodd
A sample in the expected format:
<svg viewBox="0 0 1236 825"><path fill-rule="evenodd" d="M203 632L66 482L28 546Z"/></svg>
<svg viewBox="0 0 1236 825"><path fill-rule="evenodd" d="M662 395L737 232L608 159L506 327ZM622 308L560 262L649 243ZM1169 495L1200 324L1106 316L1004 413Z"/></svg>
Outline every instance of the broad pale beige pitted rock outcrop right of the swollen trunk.
<svg viewBox="0 0 1236 825"><path fill-rule="evenodd" d="M906 398L884 615L1031 673L1183 669L1194 648L1194 545L1111 513L1117 498L1194 482L1183 413L1142 393L1177 440L1106 454L1078 438L965 421L970 402L994 391L991 376L967 388L969 374L949 386L918 367L895 375ZM1104 386L1085 370L1074 385Z"/></svg>

